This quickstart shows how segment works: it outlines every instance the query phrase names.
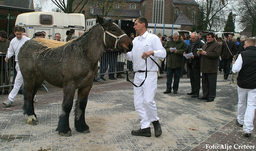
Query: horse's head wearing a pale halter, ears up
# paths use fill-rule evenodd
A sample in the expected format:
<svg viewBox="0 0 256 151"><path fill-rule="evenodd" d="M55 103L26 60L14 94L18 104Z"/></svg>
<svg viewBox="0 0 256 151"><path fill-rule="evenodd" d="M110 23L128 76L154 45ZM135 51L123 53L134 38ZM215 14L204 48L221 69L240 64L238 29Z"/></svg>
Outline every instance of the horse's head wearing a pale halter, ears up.
<svg viewBox="0 0 256 151"><path fill-rule="evenodd" d="M98 15L97 19L104 32L104 44L107 48L118 49L124 53L132 51L133 45L131 39L112 19L105 19Z"/></svg>

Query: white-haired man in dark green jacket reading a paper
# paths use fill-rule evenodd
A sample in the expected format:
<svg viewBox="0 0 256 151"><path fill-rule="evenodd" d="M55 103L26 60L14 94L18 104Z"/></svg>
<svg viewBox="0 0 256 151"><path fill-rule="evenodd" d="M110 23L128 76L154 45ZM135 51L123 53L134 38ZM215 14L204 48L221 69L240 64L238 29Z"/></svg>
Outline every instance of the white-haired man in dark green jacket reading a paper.
<svg viewBox="0 0 256 151"><path fill-rule="evenodd" d="M176 48L172 50L172 48ZM164 45L164 49L167 54L167 71L166 71L166 91L164 93L173 93L177 94L180 83L180 73L182 68L182 59L183 53L187 50L187 44L183 40L178 32L173 32L171 40L167 41L167 44ZM172 86L172 76L174 74L174 81Z"/></svg>

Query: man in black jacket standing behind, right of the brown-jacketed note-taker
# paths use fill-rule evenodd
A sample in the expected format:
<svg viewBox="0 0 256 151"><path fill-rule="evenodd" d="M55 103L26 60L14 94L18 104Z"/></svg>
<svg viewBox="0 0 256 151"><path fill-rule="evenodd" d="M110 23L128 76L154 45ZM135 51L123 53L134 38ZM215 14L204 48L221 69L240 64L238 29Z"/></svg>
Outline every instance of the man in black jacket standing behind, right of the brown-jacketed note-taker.
<svg viewBox="0 0 256 151"><path fill-rule="evenodd" d="M232 34L228 35L228 41L224 41L221 47L221 59L224 71L224 80L228 79L230 66L234 54L236 53L236 43L232 41Z"/></svg>

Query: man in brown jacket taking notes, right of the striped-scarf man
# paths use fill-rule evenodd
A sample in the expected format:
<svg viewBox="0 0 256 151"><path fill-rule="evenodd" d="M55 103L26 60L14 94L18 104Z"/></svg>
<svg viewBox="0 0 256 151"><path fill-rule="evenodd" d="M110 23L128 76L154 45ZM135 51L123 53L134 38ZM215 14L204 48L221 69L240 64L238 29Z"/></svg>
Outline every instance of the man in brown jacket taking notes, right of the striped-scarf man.
<svg viewBox="0 0 256 151"><path fill-rule="evenodd" d="M206 99L212 102L216 97L217 72L221 45L214 39L213 32L207 33L207 43L202 47L203 52L197 52L201 57L202 90L203 96L197 99Z"/></svg>

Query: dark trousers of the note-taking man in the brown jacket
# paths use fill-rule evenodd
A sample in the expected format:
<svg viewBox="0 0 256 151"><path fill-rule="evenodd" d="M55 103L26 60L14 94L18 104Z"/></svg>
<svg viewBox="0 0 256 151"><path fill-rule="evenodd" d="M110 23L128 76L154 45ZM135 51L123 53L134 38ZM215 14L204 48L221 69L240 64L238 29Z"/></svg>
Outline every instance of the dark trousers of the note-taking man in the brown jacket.
<svg viewBox="0 0 256 151"><path fill-rule="evenodd" d="M217 73L202 73L202 90L206 98L216 97Z"/></svg>

